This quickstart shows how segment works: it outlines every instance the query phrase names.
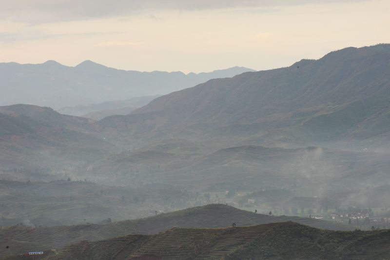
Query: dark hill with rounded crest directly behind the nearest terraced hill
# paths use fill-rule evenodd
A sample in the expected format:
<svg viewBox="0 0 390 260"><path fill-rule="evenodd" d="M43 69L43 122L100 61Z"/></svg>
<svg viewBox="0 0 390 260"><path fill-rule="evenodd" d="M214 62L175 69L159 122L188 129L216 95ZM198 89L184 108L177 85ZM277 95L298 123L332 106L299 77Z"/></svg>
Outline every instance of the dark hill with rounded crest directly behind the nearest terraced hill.
<svg viewBox="0 0 390 260"><path fill-rule="evenodd" d="M128 234L157 234L173 227L222 228L257 225L282 221L294 221L313 227L349 230L344 226L325 220L298 217L275 217L238 210L222 204L211 204L181 211L160 214L138 220L126 220L108 224L86 224L59 227L8 227L0 230L0 256L21 254L26 251L40 251L59 248L81 240L102 240ZM8 249L5 249L9 245Z"/></svg>

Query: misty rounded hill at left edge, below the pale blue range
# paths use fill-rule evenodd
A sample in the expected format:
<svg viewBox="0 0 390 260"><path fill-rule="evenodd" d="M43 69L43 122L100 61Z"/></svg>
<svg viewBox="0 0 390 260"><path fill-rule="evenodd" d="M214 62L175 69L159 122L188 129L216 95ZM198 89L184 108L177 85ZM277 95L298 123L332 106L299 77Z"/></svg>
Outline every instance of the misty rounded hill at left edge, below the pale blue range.
<svg viewBox="0 0 390 260"><path fill-rule="evenodd" d="M41 173L56 166L57 171L62 171L115 150L100 136L93 120L61 115L49 107L35 105L0 107L3 171Z"/></svg>

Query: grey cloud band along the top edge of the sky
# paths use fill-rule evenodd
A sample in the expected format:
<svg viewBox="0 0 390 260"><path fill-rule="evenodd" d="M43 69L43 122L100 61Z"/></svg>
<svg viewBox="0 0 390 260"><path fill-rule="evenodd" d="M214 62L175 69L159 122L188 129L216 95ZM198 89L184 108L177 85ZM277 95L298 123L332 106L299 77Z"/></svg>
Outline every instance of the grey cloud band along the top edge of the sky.
<svg viewBox="0 0 390 260"><path fill-rule="evenodd" d="M202 10L266 7L370 0L0 0L2 20L30 23L88 20L153 10Z"/></svg>

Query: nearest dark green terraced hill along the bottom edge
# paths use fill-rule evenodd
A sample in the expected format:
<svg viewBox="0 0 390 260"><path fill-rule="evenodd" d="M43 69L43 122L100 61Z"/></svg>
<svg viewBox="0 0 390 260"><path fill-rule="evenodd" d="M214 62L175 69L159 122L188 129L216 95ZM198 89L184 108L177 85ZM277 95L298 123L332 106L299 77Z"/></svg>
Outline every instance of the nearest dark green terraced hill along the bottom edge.
<svg viewBox="0 0 390 260"><path fill-rule="evenodd" d="M388 259L390 231L328 231L283 222L248 227L173 228L157 235L84 241L39 259ZM10 257L7 259L26 259Z"/></svg>

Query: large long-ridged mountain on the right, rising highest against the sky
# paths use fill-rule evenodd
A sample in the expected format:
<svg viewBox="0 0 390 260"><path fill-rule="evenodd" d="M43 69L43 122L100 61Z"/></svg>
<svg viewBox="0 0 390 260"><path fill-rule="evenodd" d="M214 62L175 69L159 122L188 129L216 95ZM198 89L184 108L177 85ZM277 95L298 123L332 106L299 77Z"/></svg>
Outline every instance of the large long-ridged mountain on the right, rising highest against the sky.
<svg viewBox="0 0 390 260"><path fill-rule="evenodd" d="M131 143L191 137L387 150L389 82L390 44L351 47L286 68L210 80L99 124Z"/></svg>

